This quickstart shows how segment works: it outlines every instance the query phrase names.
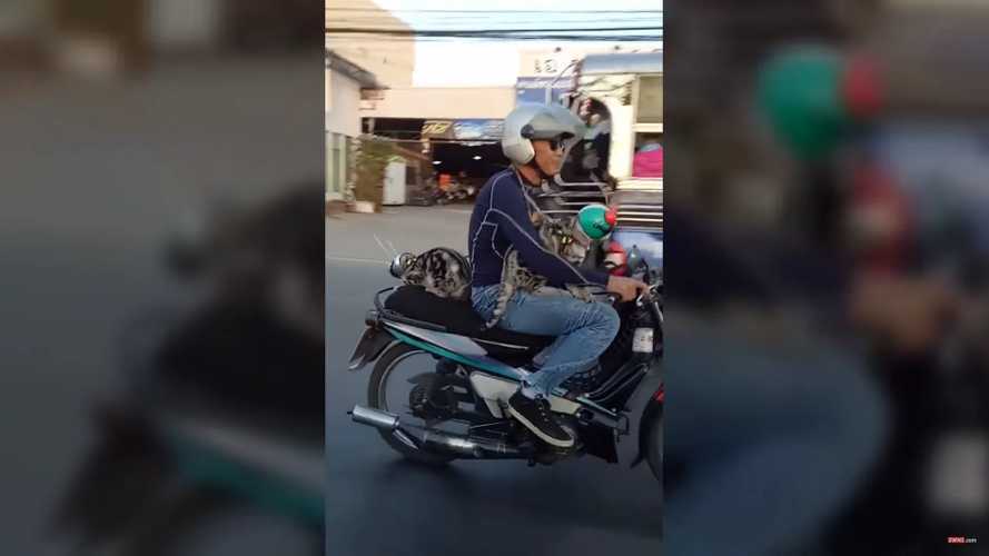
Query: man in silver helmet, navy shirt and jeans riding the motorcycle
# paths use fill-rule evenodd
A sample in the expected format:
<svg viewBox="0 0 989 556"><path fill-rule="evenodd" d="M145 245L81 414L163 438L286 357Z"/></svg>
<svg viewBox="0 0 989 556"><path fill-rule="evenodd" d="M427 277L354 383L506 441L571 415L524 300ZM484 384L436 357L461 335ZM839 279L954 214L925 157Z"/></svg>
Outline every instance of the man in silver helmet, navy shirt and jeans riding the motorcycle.
<svg viewBox="0 0 989 556"><path fill-rule="evenodd" d="M567 143L583 123L561 106L521 105L506 118L502 150L512 167L488 179L477 195L468 232L472 304L485 319L495 312L510 249L524 266L555 288L593 284L632 300L646 284L597 270L576 268L540 240L530 215L526 188L560 172ZM552 290L551 290L552 291ZM617 312L603 302L570 295L514 291L497 326L523 334L556 336L535 358L530 376L508 401L508 411L545 443L568 448L574 438L556 423L548 398L567 378L593 367L617 334Z"/></svg>

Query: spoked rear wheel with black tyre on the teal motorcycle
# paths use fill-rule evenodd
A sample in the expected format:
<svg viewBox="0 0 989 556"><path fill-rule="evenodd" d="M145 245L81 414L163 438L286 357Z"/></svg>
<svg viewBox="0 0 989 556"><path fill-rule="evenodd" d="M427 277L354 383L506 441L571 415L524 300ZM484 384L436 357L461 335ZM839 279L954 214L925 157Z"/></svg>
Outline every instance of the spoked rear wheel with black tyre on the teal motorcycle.
<svg viewBox="0 0 989 556"><path fill-rule="evenodd" d="M466 424L449 418L442 410L422 407L427 381L438 376L435 369L436 359L429 353L405 344L393 345L374 366L367 385L368 406L398 415L404 424L465 434ZM456 459L409 446L390 430L378 430L378 434L388 446L414 461L442 465Z"/></svg>

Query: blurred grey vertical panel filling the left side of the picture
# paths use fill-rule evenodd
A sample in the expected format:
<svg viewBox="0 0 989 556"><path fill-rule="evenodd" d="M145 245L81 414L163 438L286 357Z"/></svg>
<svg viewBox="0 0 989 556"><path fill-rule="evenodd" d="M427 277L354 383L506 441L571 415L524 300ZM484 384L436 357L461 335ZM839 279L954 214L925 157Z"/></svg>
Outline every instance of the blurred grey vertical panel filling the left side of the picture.
<svg viewBox="0 0 989 556"><path fill-rule="evenodd" d="M0 7L4 553L322 552L322 20Z"/></svg>

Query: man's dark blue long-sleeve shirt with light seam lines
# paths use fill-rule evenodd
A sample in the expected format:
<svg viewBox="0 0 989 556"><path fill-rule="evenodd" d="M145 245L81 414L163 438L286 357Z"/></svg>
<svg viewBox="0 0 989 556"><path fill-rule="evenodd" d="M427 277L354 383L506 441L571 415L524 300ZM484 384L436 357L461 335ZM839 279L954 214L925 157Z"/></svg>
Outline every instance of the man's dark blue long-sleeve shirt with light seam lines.
<svg viewBox="0 0 989 556"><path fill-rule="evenodd" d="M502 281L502 266L510 247L518 251L526 268L546 277L550 286L606 285L607 274L576 268L542 245L530 219L522 187L518 175L508 169L492 176L477 193L467 235L474 286Z"/></svg>

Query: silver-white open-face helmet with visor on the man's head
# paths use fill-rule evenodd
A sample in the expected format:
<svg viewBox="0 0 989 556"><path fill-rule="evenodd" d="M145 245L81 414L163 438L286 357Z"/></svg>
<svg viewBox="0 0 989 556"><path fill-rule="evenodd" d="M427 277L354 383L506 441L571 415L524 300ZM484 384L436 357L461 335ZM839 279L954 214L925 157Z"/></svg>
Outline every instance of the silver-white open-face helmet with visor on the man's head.
<svg viewBox="0 0 989 556"><path fill-rule="evenodd" d="M523 102L505 117L502 152L517 165L527 165L535 157L533 139L564 140L570 149L584 137L584 122L560 105Z"/></svg>

